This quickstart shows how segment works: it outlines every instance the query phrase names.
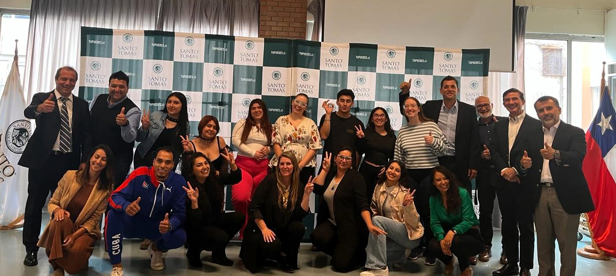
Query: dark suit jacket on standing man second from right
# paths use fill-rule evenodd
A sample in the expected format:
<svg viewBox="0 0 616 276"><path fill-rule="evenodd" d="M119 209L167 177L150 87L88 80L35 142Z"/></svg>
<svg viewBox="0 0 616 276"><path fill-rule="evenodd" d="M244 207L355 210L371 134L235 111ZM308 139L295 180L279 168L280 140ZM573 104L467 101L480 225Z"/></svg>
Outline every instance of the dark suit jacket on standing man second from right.
<svg viewBox="0 0 616 276"><path fill-rule="evenodd" d="M490 145L488 145L492 157L490 160L494 165L496 173L500 175L504 168L512 167L516 169L521 180L521 183L517 184L517 182L509 182L503 177L497 177L496 187L518 185L522 191L528 193L529 198L533 202L537 200L536 179L541 169L540 160L543 160L539 153L540 148L537 147L538 140L543 145L543 132L540 129L541 121L526 115L520 125L520 129L517 131L511 151L509 151L509 120L501 120L494 124L492 140ZM533 160L532 167L529 169L522 169L520 165L524 151Z"/></svg>

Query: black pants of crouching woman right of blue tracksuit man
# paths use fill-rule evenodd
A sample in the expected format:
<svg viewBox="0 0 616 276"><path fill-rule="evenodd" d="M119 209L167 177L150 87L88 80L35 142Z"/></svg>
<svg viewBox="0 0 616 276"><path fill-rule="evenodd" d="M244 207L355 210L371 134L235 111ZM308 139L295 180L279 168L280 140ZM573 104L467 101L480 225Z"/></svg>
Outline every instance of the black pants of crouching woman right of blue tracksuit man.
<svg viewBox="0 0 616 276"><path fill-rule="evenodd" d="M244 214L222 213L213 225L187 228L188 251L200 254L212 251L213 257L226 256L225 248L244 224Z"/></svg>

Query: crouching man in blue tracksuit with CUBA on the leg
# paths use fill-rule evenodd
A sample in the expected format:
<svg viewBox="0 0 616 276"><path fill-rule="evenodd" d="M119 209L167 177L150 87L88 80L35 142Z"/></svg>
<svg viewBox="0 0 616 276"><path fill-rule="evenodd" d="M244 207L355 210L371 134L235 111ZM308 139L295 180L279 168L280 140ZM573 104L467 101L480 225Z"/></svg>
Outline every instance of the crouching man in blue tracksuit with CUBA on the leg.
<svg viewBox="0 0 616 276"><path fill-rule="evenodd" d="M161 251L179 248L186 241L180 226L186 218L184 177L173 171L173 153L162 147L152 167L139 167L109 198L105 243L111 259L111 276L124 274L121 255L123 238L148 238L150 267L163 270Z"/></svg>

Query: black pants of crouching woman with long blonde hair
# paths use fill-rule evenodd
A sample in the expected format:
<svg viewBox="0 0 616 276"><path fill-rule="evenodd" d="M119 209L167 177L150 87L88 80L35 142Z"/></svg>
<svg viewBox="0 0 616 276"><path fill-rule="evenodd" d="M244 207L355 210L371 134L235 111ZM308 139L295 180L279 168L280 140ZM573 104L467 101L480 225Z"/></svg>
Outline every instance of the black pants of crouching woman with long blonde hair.
<svg viewBox="0 0 616 276"><path fill-rule="evenodd" d="M288 265L298 266L299 243L304 237L304 224L291 221L284 228L270 230L276 234L275 240L270 243L263 240L263 234L256 226L244 232L240 258L246 269L252 273L259 272L265 259L276 258L281 252L285 253Z"/></svg>

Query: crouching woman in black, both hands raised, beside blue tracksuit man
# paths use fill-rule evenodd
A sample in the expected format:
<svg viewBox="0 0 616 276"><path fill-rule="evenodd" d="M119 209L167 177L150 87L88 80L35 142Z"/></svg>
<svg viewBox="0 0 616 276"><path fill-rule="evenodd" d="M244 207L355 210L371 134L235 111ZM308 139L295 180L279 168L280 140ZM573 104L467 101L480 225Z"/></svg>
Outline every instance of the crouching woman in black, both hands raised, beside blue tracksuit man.
<svg viewBox="0 0 616 276"><path fill-rule="evenodd" d="M227 258L225 247L241 225L244 214L238 212L224 213L223 185L233 185L241 181L241 169L235 165L233 153L221 154L231 167L231 173L216 174L213 164L200 152L192 153L186 159L182 175L188 182L186 191L188 202L186 208L186 233L188 264L201 267L201 251L212 251L211 261L221 266L233 266ZM192 185L190 184L192 182Z"/></svg>

